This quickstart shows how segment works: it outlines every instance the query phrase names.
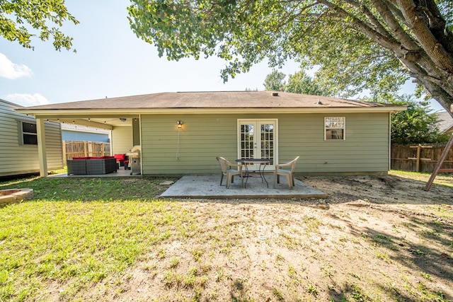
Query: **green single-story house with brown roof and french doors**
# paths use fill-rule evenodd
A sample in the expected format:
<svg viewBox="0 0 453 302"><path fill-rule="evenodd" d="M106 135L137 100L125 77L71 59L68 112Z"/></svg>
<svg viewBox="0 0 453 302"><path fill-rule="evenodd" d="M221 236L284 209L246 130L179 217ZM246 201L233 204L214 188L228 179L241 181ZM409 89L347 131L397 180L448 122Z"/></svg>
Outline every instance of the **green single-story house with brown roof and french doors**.
<svg viewBox="0 0 453 302"><path fill-rule="evenodd" d="M141 146L144 175L218 173L216 156L273 163L300 156L296 173L331 175L387 173L390 115L401 110L406 107L241 91L154 93L18 111L111 129L113 153Z"/></svg>

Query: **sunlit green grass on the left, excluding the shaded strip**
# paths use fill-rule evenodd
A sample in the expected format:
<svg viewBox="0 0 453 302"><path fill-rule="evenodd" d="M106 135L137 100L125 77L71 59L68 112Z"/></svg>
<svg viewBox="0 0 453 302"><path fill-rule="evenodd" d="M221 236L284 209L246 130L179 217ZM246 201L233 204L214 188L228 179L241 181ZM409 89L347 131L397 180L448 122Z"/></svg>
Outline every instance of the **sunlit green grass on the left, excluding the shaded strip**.
<svg viewBox="0 0 453 302"><path fill-rule="evenodd" d="M33 297L50 280L77 292L122 272L159 247L183 215L178 204L158 201L36 201L6 207L0 221L0 301ZM171 236L178 238L178 232Z"/></svg>

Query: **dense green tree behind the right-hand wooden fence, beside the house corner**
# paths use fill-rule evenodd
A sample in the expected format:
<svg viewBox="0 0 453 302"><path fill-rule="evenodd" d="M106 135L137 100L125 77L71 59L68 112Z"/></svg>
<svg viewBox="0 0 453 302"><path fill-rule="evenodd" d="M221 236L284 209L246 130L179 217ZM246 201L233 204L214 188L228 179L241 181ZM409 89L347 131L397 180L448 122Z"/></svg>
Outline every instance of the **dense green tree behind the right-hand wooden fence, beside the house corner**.
<svg viewBox="0 0 453 302"><path fill-rule="evenodd" d="M407 106L406 111L391 115L392 144L432 144L448 141L449 136L439 129L439 116L432 112L425 100L413 95L387 95L381 103Z"/></svg>

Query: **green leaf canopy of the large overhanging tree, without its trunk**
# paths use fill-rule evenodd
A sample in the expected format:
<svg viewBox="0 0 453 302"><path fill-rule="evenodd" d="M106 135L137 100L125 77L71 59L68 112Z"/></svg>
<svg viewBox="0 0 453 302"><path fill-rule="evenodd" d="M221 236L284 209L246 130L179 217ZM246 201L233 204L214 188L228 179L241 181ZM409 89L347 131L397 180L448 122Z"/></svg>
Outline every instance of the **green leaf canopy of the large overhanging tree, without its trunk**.
<svg viewBox="0 0 453 302"><path fill-rule="evenodd" d="M349 21L320 19L329 9L312 2L134 0L129 13L134 33L154 43L160 56L225 59L224 81L263 59L282 66L289 57L303 69L320 66L321 86L337 95L396 91L408 79L390 52L345 27Z"/></svg>

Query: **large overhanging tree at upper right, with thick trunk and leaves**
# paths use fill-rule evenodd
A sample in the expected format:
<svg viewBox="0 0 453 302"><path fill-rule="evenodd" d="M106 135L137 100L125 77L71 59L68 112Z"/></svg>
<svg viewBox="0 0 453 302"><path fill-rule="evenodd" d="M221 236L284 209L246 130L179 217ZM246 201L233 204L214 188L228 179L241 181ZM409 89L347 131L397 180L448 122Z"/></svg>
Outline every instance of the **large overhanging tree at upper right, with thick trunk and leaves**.
<svg viewBox="0 0 453 302"><path fill-rule="evenodd" d="M336 94L391 93L412 77L453 105L451 0L131 1L138 37L168 59L225 59L224 81L292 58L320 66L316 78Z"/></svg>

